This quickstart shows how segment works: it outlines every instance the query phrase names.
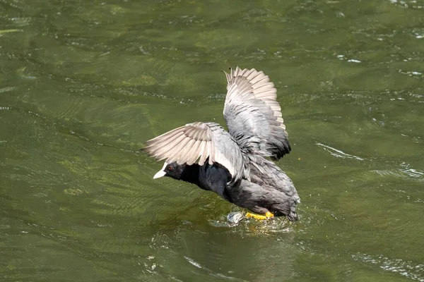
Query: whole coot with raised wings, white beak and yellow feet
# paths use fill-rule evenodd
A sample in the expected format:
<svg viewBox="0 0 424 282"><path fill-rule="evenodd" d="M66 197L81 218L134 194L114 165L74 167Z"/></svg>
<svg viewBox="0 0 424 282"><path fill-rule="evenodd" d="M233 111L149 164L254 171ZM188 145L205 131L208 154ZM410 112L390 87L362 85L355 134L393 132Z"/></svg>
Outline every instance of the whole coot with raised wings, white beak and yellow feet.
<svg viewBox="0 0 424 282"><path fill-rule="evenodd" d="M218 123L194 122L148 140L143 151L165 159L153 178L168 176L216 192L253 212L247 218L297 221L298 192L273 162L291 150L276 87L254 68L224 73L228 131Z"/></svg>

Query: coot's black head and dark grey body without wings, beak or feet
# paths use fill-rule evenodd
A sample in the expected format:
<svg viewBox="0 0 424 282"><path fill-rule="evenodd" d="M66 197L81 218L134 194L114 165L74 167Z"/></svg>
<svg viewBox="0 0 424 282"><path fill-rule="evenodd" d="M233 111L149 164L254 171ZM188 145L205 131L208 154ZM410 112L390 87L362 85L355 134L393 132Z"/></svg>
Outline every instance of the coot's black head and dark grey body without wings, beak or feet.
<svg viewBox="0 0 424 282"><path fill-rule="evenodd" d="M271 212L275 216L287 216L298 220L296 203L300 201L293 182L278 166L263 160L264 175L256 166L251 167L251 180L241 179L231 183L231 174L220 164L167 164L165 176L195 184L203 190L216 192L220 197L258 214Z"/></svg>

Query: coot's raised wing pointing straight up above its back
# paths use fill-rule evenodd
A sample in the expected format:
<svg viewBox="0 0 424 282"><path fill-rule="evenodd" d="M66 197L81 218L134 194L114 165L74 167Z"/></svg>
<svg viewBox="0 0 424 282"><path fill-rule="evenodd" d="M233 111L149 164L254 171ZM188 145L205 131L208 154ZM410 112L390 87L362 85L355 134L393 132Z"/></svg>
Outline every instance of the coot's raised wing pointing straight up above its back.
<svg viewBox="0 0 424 282"><path fill-rule="evenodd" d="M288 154L291 148L276 101L277 90L268 75L254 68L239 67L225 75L228 85L224 117L230 135L236 140L243 136L259 137L259 145L252 142L252 147L266 157L280 159Z"/></svg>

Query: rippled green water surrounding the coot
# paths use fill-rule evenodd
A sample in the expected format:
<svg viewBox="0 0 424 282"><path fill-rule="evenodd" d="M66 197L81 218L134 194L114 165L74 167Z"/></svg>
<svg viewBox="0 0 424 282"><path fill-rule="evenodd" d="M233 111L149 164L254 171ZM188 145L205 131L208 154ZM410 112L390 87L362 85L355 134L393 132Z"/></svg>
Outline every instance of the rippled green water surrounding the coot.
<svg viewBox="0 0 424 282"><path fill-rule="evenodd" d="M0 281L424 281L424 1L0 0ZM270 75L300 221L144 142Z"/></svg>

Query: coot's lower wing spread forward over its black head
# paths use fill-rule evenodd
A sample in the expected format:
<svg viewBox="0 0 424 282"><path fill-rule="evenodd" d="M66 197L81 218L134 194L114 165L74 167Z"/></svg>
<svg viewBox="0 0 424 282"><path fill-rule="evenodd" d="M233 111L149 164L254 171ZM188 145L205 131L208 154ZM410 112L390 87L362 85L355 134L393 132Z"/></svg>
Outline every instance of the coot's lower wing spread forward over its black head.
<svg viewBox="0 0 424 282"><path fill-rule="evenodd" d="M145 152L155 159L166 159L168 164L219 163L231 173L233 180L249 179L240 147L218 123L188 123L163 135L148 140Z"/></svg>

